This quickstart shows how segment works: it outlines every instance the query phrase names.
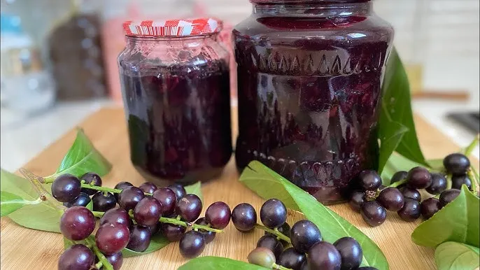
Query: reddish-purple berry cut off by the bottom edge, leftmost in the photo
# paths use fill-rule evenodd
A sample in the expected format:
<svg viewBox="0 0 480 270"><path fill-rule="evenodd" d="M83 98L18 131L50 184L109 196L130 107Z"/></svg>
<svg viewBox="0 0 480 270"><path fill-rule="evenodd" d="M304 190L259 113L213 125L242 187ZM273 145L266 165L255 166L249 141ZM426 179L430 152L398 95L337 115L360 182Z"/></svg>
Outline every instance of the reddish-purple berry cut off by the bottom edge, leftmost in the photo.
<svg viewBox="0 0 480 270"><path fill-rule="evenodd" d="M67 248L58 260L58 270L90 270L94 267L95 256L84 245L76 244Z"/></svg>

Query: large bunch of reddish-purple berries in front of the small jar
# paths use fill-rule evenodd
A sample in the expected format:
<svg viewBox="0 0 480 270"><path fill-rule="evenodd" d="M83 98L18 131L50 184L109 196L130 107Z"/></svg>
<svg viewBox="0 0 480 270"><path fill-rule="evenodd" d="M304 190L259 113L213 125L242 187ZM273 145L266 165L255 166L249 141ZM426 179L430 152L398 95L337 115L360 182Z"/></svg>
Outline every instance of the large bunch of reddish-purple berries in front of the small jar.
<svg viewBox="0 0 480 270"><path fill-rule="evenodd" d="M178 241L183 257L197 257L216 233L227 227L231 215L230 207L218 201L199 218L201 199L187 194L182 185L143 183L135 187L120 182L111 189L101 187L101 178L95 173L86 173L80 179L70 174L57 177L52 195L69 207L62 215L60 229L73 243L59 258L60 270L103 269L101 258L113 269L120 269L124 248L144 252L156 234ZM90 201L93 211L86 207ZM99 227L92 235L95 217L100 218Z"/></svg>

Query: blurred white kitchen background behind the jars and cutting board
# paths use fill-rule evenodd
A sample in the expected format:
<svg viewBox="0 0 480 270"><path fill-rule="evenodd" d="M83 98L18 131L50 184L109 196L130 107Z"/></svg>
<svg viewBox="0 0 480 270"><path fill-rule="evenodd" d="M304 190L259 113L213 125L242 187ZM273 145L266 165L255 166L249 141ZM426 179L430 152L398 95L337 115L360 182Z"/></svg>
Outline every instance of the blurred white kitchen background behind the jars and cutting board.
<svg viewBox="0 0 480 270"><path fill-rule="evenodd" d="M480 1L376 0L374 6L395 27L414 111L459 145L469 143L479 126ZM123 21L215 16L225 20L228 35L251 12L248 0L1 0L0 8L0 162L9 171L90 113L121 105L115 61ZM473 129L449 113L477 113Z"/></svg>

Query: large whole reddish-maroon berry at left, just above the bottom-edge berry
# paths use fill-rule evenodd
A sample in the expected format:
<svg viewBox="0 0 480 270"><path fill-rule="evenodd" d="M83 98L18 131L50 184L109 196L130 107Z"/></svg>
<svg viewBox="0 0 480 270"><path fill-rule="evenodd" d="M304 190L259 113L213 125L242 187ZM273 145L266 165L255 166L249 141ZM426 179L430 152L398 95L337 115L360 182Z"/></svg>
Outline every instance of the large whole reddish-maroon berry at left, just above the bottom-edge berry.
<svg viewBox="0 0 480 270"><path fill-rule="evenodd" d="M67 208L60 218L60 231L66 239L86 239L95 229L95 216L83 206Z"/></svg>

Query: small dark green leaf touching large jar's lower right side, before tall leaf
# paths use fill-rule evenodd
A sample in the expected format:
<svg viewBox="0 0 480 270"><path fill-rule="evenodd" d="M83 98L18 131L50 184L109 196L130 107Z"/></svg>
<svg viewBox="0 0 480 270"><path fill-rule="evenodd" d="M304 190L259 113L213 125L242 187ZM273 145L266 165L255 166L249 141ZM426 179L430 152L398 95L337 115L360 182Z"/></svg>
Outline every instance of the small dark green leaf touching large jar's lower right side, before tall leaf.
<svg viewBox="0 0 480 270"><path fill-rule="evenodd" d="M384 108L386 109L386 108ZM391 122L389 120L381 120L379 123L379 140L380 140L380 152L379 152L379 173L383 171L383 167L386 165L388 158L392 155L393 151L397 149L397 146L402 141L402 138L409 129L397 122Z"/></svg>

